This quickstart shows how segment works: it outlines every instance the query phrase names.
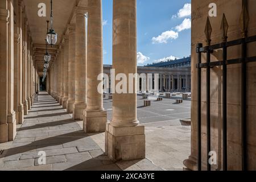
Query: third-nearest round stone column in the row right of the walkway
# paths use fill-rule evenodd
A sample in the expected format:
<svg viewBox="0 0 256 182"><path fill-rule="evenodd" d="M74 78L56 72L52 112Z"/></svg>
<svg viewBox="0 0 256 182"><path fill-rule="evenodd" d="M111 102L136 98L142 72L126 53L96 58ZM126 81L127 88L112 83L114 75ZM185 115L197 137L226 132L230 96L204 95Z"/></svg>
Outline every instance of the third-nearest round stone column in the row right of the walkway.
<svg viewBox="0 0 256 182"><path fill-rule="evenodd" d="M76 64L75 64L75 104L73 104L73 119L84 119L86 108L86 30L85 13L81 7L76 9Z"/></svg>

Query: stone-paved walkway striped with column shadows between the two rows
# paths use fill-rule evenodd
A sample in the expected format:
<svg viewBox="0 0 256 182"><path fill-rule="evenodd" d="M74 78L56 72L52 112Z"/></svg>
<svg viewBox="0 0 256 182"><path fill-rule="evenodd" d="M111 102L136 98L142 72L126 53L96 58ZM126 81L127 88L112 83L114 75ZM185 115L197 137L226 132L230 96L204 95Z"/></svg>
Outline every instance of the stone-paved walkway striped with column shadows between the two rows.
<svg viewBox="0 0 256 182"><path fill-rule="evenodd" d="M14 142L0 144L0 170L124 170L155 169L149 160L114 164L101 147L85 134L82 122L61 108L46 92L41 92ZM96 134L95 134L96 135ZM46 165L39 165L39 151L46 152Z"/></svg>

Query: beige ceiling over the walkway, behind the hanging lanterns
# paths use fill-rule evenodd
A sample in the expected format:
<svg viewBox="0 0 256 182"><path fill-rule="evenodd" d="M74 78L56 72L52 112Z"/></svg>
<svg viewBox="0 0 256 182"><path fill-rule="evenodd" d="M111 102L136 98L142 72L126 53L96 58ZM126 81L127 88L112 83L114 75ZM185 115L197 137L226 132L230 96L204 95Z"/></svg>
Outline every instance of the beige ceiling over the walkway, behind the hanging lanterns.
<svg viewBox="0 0 256 182"><path fill-rule="evenodd" d="M39 72L43 70L44 54L46 53L46 32L47 22L50 20L51 1L50 0L23 0L26 16L28 19L28 26L32 36L34 46L34 56ZM48 46L49 53L52 56L50 66L52 65L60 41L67 30L67 24L70 22L74 7L77 6L79 0L53 0L53 29L58 34L57 44L53 47ZM46 17L39 17L39 3L46 4Z"/></svg>

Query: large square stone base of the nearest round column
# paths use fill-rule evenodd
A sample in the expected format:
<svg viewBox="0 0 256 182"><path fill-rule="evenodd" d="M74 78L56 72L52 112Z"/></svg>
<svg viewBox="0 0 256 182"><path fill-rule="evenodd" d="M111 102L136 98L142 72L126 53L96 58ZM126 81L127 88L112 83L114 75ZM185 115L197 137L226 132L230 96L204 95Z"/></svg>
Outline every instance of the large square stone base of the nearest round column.
<svg viewBox="0 0 256 182"><path fill-rule="evenodd" d="M105 153L117 162L145 158L144 126L114 127L106 124Z"/></svg>

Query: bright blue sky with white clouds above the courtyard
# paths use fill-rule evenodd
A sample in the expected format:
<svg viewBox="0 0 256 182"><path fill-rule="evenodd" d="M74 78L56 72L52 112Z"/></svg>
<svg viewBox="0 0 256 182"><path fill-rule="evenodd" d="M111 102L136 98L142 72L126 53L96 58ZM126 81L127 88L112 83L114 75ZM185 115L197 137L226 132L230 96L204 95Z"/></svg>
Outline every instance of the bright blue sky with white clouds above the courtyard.
<svg viewBox="0 0 256 182"><path fill-rule="evenodd" d="M104 64L112 64L112 0L103 0ZM137 0L138 65L191 54L191 0Z"/></svg>

